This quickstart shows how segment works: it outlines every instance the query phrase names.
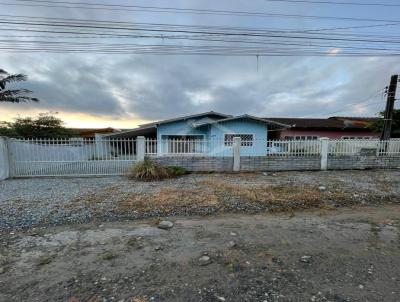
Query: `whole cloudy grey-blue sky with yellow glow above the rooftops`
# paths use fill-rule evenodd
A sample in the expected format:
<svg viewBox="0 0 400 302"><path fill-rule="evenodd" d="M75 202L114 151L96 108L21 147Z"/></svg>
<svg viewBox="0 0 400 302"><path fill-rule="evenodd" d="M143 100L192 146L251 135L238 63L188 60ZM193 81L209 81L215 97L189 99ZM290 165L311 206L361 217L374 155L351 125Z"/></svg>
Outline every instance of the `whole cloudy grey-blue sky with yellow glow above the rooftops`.
<svg viewBox="0 0 400 302"><path fill-rule="evenodd" d="M73 1L75 0L69 2ZM82 2L114 5L133 3L128 0ZM4 3L17 5L4 5ZM385 3L396 3L396 1L387 0ZM26 4L25 1L2 0L0 9L2 14L12 16L257 29L309 30L387 23L65 7L71 4L56 8ZM359 7L265 0L158 0L135 1L134 4L400 20L398 17L400 7ZM29 25L25 26L27 29L32 28ZM351 34L356 31L359 34L386 35L395 39L399 27L400 25L390 25L348 29L345 33ZM1 32L2 40L6 37L11 39L13 35L18 36L15 39L24 39L21 31L17 33L11 30L10 25L0 24L1 28L4 29ZM34 40L32 37L28 39ZM114 43L108 38L102 42ZM148 43L148 41L130 41L130 43L136 42ZM194 42L173 43L193 45ZM207 41L196 43L210 44ZM384 108L384 99L379 92L388 84L390 75L400 73L400 57L340 57L335 56L342 51L340 45L335 47L332 42L331 46L329 56L292 55L258 58L255 55L237 57L13 52L1 48L0 68L10 73L27 74L29 81L24 83L24 87L33 90L34 96L40 98L41 102L0 104L0 120L11 121L16 116L32 116L51 111L58 112L58 116L67 126L129 128L148 121L210 110L265 117L375 115Z"/></svg>

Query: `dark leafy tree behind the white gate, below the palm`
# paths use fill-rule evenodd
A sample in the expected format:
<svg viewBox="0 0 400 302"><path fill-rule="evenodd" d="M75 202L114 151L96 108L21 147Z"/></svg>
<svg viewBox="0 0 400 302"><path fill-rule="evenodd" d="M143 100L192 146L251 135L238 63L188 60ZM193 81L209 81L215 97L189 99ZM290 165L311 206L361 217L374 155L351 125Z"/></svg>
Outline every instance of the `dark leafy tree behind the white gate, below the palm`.
<svg viewBox="0 0 400 302"><path fill-rule="evenodd" d="M38 117L17 118L13 123L0 125L0 136L18 138L69 138L79 134L63 126L63 121L50 113Z"/></svg>

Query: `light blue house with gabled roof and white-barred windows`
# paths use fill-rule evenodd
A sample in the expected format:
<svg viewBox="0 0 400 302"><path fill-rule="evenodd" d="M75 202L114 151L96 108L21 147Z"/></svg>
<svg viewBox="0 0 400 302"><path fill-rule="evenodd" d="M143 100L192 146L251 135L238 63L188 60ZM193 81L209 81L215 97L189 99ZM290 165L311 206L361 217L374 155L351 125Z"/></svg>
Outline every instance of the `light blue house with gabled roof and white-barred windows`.
<svg viewBox="0 0 400 302"><path fill-rule="evenodd" d="M267 153L268 131L287 128L278 122L251 115L232 116L214 111L141 125L113 138L144 136L156 140L157 155L231 156L234 137L241 138L241 154L263 156Z"/></svg>

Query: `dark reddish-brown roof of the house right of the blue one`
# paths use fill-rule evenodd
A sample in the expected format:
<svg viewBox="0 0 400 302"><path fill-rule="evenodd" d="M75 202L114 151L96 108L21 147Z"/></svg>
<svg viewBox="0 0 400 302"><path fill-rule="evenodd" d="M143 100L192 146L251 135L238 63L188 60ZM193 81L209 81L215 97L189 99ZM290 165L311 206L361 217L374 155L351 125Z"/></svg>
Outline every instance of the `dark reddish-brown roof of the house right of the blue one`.
<svg viewBox="0 0 400 302"><path fill-rule="evenodd" d="M291 125L292 128L302 129L368 129L368 123L375 120L372 117L330 117L330 118L266 118L266 120Z"/></svg>

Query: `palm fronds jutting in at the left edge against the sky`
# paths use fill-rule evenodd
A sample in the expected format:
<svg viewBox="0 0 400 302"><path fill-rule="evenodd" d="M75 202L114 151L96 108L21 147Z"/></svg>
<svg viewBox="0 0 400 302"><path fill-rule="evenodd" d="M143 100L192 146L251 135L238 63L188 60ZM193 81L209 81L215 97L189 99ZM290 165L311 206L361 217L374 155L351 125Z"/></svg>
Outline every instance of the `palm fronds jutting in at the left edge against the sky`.
<svg viewBox="0 0 400 302"><path fill-rule="evenodd" d="M39 99L27 96L32 93L28 89L6 89L6 85L13 82L23 82L27 80L24 74L9 74L0 68L0 102L21 103L21 102L39 102Z"/></svg>

